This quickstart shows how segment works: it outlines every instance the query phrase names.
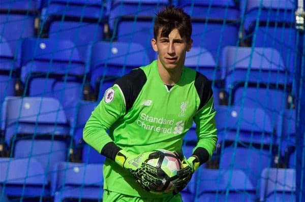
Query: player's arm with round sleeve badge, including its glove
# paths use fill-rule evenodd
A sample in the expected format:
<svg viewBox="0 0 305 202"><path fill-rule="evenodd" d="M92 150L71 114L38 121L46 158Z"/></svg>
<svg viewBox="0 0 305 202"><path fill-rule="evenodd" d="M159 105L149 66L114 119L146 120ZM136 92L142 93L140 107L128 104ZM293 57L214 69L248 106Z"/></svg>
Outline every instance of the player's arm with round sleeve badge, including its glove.
<svg viewBox="0 0 305 202"><path fill-rule="evenodd" d="M154 178L154 173L146 172L147 170L151 171L151 169L142 166L143 162L151 157L149 155L152 153L131 154L118 147L107 133L111 125L131 108L139 88L134 89L130 81L133 80L132 77L139 77L141 74L139 71L133 71L131 74L118 79L115 82L116 84L105 92L102 101L86 122L83 129L83 139L100 154L128 170L136 178L139 185L149 190L150 187L159 186L158 183L161 183Z"/></svg>

